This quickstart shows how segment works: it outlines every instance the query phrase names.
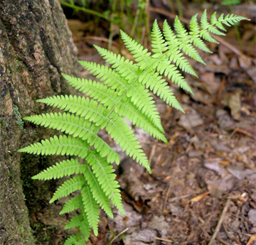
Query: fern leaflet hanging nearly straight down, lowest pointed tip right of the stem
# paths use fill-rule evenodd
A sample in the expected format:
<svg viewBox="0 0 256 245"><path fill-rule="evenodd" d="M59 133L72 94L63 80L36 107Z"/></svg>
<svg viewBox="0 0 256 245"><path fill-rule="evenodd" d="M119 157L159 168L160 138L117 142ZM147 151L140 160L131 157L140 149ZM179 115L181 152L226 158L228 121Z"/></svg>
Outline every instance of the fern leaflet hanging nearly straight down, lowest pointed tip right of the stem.
<svg viewBox="0 0 256 245"><path fill-rule="evenodd" d="M85 210L88 223L90 227L92 227L95 236L97 236L97 227L100 219L99 205L97 205L97 202L92 197L92 192L90 191L90 188L87 185L82 187L81 193L83 209Z"/></svg>

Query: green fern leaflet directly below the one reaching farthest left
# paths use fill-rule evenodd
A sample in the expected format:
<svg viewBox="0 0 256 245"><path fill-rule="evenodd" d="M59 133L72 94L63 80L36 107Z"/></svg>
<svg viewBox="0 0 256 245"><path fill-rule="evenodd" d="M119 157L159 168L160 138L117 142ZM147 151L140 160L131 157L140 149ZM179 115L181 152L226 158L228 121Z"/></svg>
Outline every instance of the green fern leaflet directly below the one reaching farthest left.
<svg viewBox="0 0 256 245"><path fill-rule="evenodd" d="M73 175L74 173L84 173L85 165L78 163L78 158L71 158L70 160L63 160L60 163L56 163L52 167L43 170L41 173L33 176L33 180L50 180L56 178L62 178L65 175Z"/></svg>

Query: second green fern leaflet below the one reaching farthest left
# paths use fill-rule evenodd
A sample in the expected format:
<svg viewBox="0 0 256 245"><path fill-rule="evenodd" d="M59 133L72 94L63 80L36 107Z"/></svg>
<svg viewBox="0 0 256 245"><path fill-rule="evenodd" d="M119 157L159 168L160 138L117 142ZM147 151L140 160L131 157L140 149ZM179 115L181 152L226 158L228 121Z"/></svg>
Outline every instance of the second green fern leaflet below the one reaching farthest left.
<svg viewBox="0 0 256 245"><path fill-rule="evenodd" d="M85 178L82 175L77 175L70 180L66 180L58 190L55 191L50 203L54 202L55 200L70 195L70 193L74 192L75 190L81 190L82 186L85 185Z"/></svg>

